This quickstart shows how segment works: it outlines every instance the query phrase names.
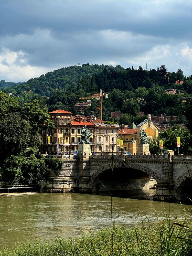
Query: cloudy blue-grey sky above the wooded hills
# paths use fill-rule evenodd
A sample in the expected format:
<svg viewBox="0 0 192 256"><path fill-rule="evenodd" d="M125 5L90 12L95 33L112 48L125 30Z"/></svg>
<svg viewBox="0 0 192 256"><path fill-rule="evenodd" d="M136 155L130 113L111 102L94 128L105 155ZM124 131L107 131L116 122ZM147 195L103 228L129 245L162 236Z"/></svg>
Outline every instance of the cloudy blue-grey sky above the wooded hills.
<svg viewBox="0 0 192 256"><path fill-rule="evenodd" d="M0 80L83 63L192 74L190 0L0 0Z"/></svg>

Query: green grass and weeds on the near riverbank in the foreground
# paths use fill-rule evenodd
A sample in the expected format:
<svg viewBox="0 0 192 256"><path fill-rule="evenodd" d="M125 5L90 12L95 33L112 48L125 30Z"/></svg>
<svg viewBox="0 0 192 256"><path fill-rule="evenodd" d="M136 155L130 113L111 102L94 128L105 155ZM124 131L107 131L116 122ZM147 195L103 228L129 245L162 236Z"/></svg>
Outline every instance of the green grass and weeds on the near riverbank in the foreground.
<svg viewBox="0 0 192 256"><path fill-rule="evenodd" d="M35 240L14 250L4 249L0 256L192 255L191 229L187 228L191 223L186 216L179 225L169 225L167 215L165 220L158 220L152 226L142 218L141 221L142 226L135 226L133 229L116 226L105 228L98 233L90 231L89 234L68 240L63 237L56 237L46 243Z"/></svg>

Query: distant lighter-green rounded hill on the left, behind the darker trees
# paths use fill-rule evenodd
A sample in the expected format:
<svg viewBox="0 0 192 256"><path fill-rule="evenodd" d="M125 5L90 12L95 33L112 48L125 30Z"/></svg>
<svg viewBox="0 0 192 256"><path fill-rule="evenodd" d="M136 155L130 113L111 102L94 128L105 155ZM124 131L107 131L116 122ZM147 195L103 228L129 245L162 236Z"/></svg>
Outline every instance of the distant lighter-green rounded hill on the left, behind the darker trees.
<svg viewBox="0 0 192 256"><path fill-rule="evenodd" d="M34 93L47 97L60 90L72 90L75 92L77 90L77 83L82 77L93 76L102 72L104 68L116 70L112 66L89 65L89 63L82 66L71 66L48 72L45 75L42 74L39 78L31 78L20 86L16 84L14 88L8 88L5 92L11 90L9 92L18 95L29 89Z"/></svg>

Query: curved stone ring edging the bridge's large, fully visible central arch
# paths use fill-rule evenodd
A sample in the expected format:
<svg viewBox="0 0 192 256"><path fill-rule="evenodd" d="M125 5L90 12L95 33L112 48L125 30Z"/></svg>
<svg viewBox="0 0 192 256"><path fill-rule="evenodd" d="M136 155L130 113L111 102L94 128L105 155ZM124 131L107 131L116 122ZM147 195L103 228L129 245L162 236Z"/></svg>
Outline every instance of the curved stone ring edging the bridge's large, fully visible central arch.
<svg viewBox="0 0 192 256"><path fill-rule="evenodd" d="M156 173L154 172L152 169L146 167L146 166L143 166L141 164L134 164L134 163L126 163L126 162L118 162L118 163L114 163L113 164L113 168L121 168L122 167L122 163L125 163L125 168L132 168L132 169L136 169L136 170L140 170L144 173L147 173L149 175L151 175L157 182L159 180L161 180L161 177ZM107 165L103 165L101 166L100 168L98 168L91 176L91 179L90 179L90 185L91 185L91 188L93 186L93 183L95 181L95 179L102 173L104 172L105 170L108 170L108 169L112 169L112 163L111 164L107 164Z"/></svg>

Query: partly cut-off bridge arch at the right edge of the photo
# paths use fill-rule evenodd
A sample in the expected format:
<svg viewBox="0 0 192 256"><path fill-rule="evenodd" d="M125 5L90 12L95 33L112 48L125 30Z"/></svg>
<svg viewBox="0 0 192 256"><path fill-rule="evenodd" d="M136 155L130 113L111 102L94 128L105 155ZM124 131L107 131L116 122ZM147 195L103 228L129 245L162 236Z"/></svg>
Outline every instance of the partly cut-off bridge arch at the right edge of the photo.
<svg viewBox="0 0 192 256"><path fill-rule="evenodd" d="M178 200L186 199L185 193L188 192L188 185L189 185L188 183L189 182L192 183L191 177L190 177L190 174L188 171L185 172L184 174L180 175L174 182L174 194ZM188 196L191 196L191 194Z"/></svg>

